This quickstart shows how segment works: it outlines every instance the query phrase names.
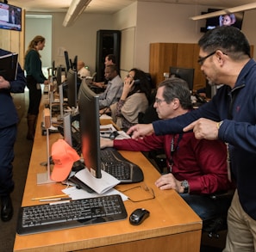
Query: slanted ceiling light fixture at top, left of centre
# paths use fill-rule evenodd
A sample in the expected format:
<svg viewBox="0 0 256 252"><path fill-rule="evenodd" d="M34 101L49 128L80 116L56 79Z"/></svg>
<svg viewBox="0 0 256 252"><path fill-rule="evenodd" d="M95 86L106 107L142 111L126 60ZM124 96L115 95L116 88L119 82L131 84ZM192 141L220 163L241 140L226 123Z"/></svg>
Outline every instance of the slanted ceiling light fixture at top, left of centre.
<svg viewBox="0 0 256 252"><path fill-rule="evenodd" d="M66 27L75 22L89 3L91 3L91 0L72 0L62 25Z"/></svg>

